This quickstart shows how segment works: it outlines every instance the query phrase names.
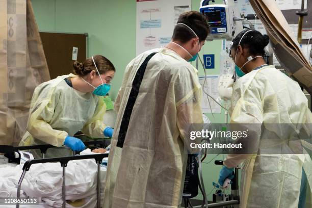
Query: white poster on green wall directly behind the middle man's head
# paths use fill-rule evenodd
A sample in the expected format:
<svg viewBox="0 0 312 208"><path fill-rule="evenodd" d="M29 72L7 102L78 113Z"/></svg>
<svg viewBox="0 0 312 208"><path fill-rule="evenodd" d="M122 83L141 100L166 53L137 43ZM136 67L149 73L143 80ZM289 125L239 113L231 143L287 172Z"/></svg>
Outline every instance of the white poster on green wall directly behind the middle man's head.
<svg viewBox="0 0 312 208"><path fill-rule="evenodd" d="M137 0L137 55L167 45L181 13L191 0Z"/></svg>

